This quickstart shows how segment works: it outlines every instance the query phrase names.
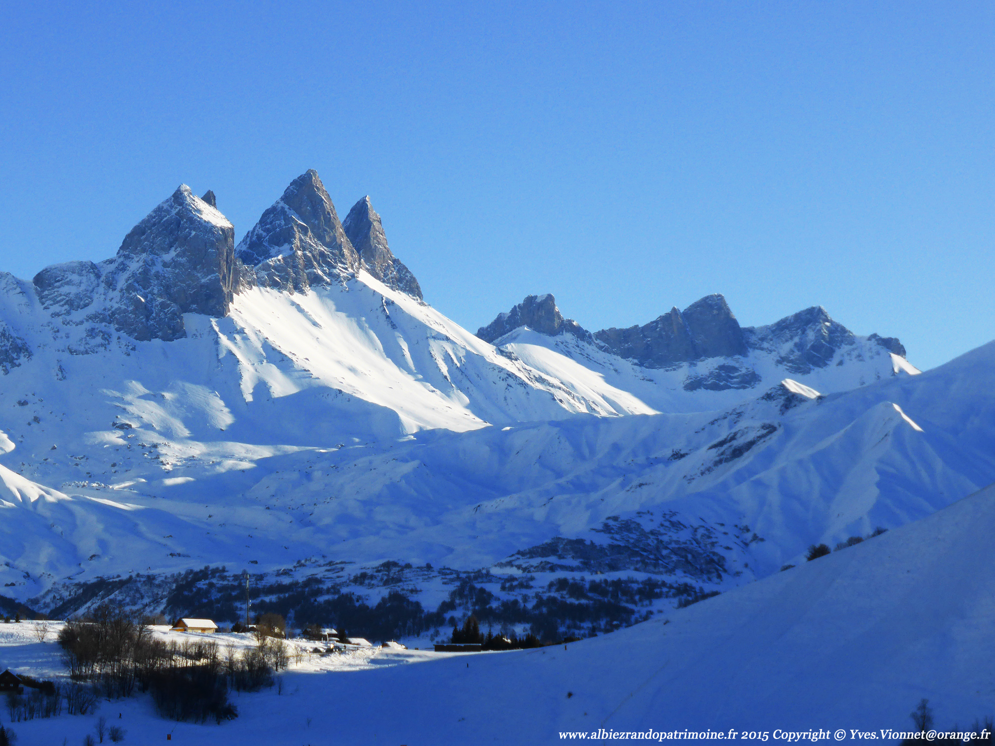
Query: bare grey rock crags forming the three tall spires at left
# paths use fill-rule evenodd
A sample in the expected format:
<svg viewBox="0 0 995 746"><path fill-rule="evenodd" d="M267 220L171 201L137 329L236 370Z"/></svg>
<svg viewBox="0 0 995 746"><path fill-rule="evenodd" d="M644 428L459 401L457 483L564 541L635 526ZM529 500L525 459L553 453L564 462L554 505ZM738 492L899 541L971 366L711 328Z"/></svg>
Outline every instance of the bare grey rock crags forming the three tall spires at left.
<svg viewBox="0 0 995 746"><path fill-rule="evenodd" d="M361 266L421 299L418 280L387 248L369 199L357 203L367 206L365 260L314 170L288 186L238 247L235 229L217 204L213 191L197 197L181 184L131 229L116 256L99 264L47 267L32 280L35 295L54 319L89 324L87 337L104 341L104 324L137 341L180 339L186 336L184 313L225 316L234 295L250 287L305 292L351 280ZM362 221L354 225L361 236ZM31 354L12 329L0 328L0 371L9 372Z"/></svg>

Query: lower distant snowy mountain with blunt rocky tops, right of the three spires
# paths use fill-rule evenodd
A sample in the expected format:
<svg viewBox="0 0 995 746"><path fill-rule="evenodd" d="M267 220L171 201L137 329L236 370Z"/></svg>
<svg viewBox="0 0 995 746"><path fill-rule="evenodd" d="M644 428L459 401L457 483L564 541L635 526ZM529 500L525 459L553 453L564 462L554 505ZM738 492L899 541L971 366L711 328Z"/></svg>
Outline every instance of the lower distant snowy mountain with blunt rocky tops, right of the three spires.
<svg viewBox="0 0 995 746"><path fill-rule="evenodd" d="M552 295L529 295L477 334L578 391L603 380L660 412L734 406L785 377L828 394L918 373L896 338L857 336L821 306L743 328L718 294L593 334L564 318Z"/></svg>

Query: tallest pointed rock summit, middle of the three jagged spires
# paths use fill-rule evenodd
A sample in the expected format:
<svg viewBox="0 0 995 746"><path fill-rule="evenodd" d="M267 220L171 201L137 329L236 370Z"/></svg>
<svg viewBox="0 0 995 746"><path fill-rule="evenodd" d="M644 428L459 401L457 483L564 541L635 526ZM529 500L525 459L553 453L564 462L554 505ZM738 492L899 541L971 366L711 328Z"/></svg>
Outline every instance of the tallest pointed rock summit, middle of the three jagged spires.
<svg viewBox="0 0 995 746"><path fill-rule="evenodd" d="M235 254L254 268L260 285L298 292L312 284L348 280L359 271L359 256L313 169L291 182Z"/></svg>

